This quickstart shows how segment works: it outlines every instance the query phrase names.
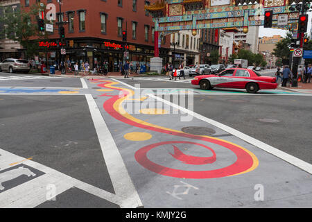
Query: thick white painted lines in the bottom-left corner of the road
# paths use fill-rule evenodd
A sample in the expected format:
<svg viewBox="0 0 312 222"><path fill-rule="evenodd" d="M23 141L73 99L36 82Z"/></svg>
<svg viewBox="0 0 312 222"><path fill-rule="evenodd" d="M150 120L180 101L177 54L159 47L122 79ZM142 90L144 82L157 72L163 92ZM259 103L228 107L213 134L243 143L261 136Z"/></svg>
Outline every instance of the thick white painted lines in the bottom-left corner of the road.
<svg viewBox="0 0 312 222"><path fill-rule="evenodd" d="M11 167L10 164L12 162L21 162L25 160L25 158L0 149L0 160L0 169L3 170ZM77 187L87 191L89 194L108 200L116 205L120 205L121 207L136 207L135 205L130 205L130 201L126 198L122 198L121 196L111 194L103 189L99 189L98 187L94 187L75 178L71 178L64 173L55 171L54 169L46 167L43 164L39 164L32 160L27 160L24 164L42 171L45 174L0 193L0 208L36 207L37 205L46 202L47 185L55 185L55 196L58 196L67 189Z"/></svg>

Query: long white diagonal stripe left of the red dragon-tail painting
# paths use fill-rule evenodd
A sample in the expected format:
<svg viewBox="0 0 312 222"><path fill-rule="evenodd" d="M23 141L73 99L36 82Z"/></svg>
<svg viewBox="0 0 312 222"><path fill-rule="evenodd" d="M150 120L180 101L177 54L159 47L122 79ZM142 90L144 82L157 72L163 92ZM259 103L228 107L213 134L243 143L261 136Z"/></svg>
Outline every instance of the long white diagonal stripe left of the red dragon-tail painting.
<svg viewBox="0 0 312 222"><path fill-rule="evenodd" d="M108 173L110 173L110 179L112 180L116 195L126 198L127 201L129 201L127 205L131 205L132 207L142 206L143 204L141 203L139 194L137 194L135 185L132 183L121 154L112 138L110 130L108 130L106 126L100 110L98 110L92 94L86 94L85 97L89 105L89 110L98 135L98 141L100 142L106 167Z"/></svg>

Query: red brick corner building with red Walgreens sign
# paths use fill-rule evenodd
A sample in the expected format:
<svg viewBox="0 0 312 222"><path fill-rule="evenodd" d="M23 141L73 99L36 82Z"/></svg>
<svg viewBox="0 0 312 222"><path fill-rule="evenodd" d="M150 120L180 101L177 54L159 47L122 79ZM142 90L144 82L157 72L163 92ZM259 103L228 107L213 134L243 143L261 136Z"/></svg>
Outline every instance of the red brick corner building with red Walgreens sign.
<svg viewBox="0 0 312 222"><path fill-rule="evenodd" d="M71 62L88 61L92 68L95 64L109 62L110 71L117 71L120 60L125 61L125 42L122 31L127 31L128 60L139 65L148 65L154 56L154 23L152 16L144 6L155 0L21 0L21 6L30 8L32 4L53 3L56 6L56 21L53 21L53 33L49 34L49 43L57 43L60 38L58 22L64 24L67 40L66 58ZM49 18L46 10L46 19ZM35 42L35 40L34 40ZM35 42L34 44L40 44ZM170 48L169 37L162 40L159 56L168 61ZM47 53L46 53L47 51ZM39 56L59 62L60 46L40 46Z"/></svg>

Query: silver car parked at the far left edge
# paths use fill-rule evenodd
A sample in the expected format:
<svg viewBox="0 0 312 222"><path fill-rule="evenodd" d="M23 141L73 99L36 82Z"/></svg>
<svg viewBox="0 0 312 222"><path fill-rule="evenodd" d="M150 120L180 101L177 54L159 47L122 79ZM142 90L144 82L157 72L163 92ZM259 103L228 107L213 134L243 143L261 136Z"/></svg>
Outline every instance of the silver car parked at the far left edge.
<svg viewBox="0 0 312 222"><path fill-rule="evenodd" d="M0 71L6 71L10 74L17 71L28 73L30 70L31 68L29 67L27 60L7 58L6 60L3 60L3 62L0 62Z"/></svg>

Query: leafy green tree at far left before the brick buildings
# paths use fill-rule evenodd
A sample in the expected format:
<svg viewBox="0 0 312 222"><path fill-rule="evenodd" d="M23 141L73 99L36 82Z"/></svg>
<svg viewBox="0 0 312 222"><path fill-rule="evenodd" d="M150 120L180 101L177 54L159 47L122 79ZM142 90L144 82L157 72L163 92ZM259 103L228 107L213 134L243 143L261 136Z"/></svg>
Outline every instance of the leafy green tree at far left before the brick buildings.
<svg viewBox="0 0 312 222"><path fill-rule="evenodd" d="M4 16L0 17L0 24L3 25L0 36L19 42L26 50L27 56L33 56L39 49L39 44L31 41L32 37L39 37L41 40L49 39L46 32L42 34L38 31L37 16L41 10L40 6L31 6L29 12L26 12L24 8L14 11L12 7L3 7L2 10Z"/></svg>

